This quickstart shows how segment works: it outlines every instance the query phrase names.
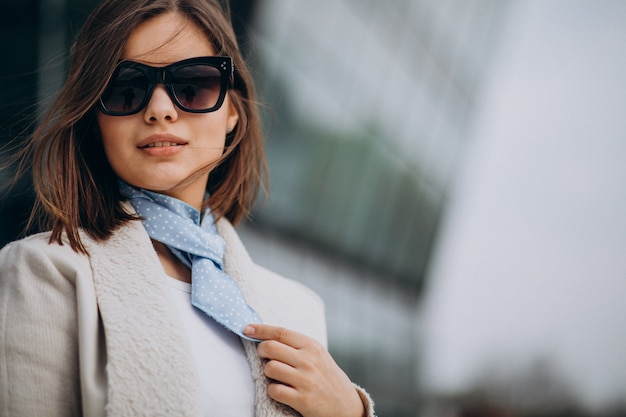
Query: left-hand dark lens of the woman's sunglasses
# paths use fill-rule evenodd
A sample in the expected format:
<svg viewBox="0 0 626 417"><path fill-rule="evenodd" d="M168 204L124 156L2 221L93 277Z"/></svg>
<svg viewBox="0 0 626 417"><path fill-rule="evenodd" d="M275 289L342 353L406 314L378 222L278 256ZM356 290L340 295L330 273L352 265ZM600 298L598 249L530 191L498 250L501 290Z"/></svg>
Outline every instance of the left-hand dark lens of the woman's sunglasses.
<svg viewBox="0 0 626 417"><path fill-rule="evenodd" d="M111 113L137 111L148 91L148 78L136 68L121 67L102 96L102 105Z"/></svg>

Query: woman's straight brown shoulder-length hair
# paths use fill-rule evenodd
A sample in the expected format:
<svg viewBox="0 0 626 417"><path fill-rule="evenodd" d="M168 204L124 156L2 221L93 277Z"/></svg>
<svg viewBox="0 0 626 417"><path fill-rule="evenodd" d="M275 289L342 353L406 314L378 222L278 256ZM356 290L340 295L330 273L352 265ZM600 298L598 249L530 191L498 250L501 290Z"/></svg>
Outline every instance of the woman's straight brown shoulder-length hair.
<svg viewBox="0 0 626 417"><path fill-rule="evenodd" d="M232 57L235 75L229 97L239 120L226 138L226 151L211 171L207 191L216 218L233 223L247 215L261 185L266 161L256 92L239 51L228 4L217 0L105 0L87 19L70 50L66 83L34 132L27 148L37 199L30 225L51 230L51 242L86 253L79 229L106 240L135 219L121 202L116 175L100 140L96 103L124 44L142 22L166 12L179 13L206 34L216 55Z"/></svg>

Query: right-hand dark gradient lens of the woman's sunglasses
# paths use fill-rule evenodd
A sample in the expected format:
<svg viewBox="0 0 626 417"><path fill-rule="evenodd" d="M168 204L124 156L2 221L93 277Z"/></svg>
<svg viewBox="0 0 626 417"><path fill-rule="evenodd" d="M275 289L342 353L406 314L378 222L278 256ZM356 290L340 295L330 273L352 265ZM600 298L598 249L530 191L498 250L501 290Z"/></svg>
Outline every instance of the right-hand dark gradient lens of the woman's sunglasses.
<svg viewBox="0 0 626 417"><path fill-rule="evenodd" d="M182 107L206 111L220 98L222 79L219 69L206 65L187 65L172 74L172 90Z"/></svg>

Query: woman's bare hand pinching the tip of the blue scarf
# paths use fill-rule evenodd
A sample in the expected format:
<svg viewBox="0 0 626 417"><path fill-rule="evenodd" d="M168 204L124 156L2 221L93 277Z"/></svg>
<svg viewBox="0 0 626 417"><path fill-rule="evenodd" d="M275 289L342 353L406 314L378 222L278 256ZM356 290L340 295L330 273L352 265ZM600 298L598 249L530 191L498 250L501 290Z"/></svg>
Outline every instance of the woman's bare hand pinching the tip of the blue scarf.
<svg viewBox="0 0 626 417"><path fill-rule="evenodd" d="M244 331L261 340L257 352L267 360L270 398L304 417L363 416L363 403L352 382L320 343L265 324L252 324Z"/></svg>

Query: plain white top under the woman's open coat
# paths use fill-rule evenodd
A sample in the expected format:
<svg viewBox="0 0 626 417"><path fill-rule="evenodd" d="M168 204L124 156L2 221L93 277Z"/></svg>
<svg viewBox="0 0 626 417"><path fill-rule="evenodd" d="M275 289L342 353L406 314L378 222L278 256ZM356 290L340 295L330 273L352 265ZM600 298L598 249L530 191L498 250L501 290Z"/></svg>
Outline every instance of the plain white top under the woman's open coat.
<svg viewBox="0 0 626 417"><path fill-rule="evenodd" d="M191 304L191 284L168 277L200 381L202 416L254 416L254 383L239 336Z"/></svg>

